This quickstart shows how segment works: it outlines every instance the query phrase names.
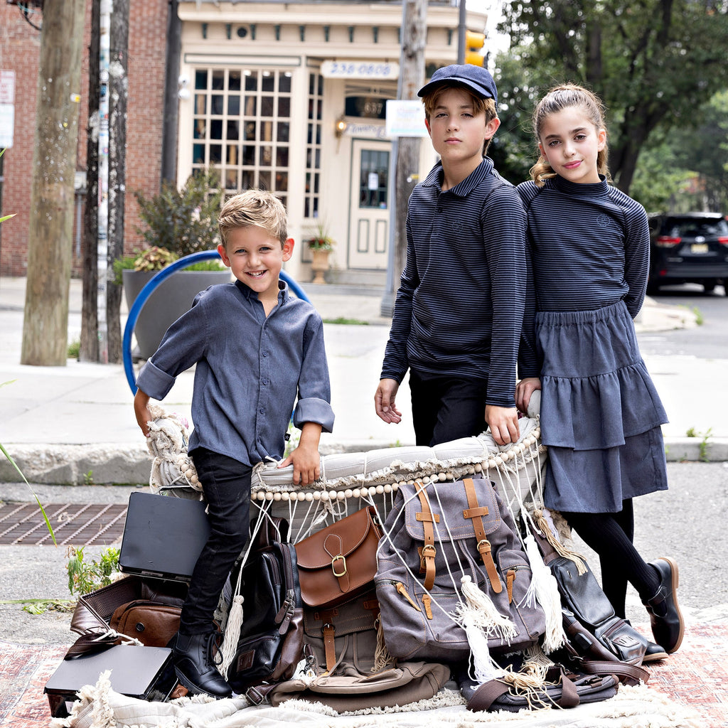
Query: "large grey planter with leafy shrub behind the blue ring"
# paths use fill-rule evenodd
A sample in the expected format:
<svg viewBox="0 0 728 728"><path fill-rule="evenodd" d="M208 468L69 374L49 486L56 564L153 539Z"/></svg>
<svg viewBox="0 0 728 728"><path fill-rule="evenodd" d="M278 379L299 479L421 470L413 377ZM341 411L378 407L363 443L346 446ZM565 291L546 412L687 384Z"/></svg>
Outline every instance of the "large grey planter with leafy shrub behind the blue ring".
<svg viewBox="0 0 728 728"><path fill-rule="evenodd" d="M114 263L115 280L124 285L127 308L159 270L183 256L217 248L217 218L223 196L218 184L217 173L203 170L191 174L181 189L165 181L153 197L141 191L134 193L142 222L137 230L149 248L135 250ZM200 290L229 280L229 269L222 261L203 261L163 281L139 314L134 329L135 356L149 359L167 328L189 309Z"/></svg>

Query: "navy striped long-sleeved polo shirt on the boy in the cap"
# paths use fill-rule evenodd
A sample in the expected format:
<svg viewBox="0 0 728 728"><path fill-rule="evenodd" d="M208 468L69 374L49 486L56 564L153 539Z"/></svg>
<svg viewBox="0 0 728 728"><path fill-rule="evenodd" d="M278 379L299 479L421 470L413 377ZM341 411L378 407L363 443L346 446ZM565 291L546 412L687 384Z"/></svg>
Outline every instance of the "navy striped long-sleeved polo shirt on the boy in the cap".
<svg viewBox="0 0 728 728"><path fill-rule="evenodd" d="M438 162L409 200L381 376L487 380L486 403L513 407L529 274L523 205L491 159L448 191L442 181Z"/></svg>

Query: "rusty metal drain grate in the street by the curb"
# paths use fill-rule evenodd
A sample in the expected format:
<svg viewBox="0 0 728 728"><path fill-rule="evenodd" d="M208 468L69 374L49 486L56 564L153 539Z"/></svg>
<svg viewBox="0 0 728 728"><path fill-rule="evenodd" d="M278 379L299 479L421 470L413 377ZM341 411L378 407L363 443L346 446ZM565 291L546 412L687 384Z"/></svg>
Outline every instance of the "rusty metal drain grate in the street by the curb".
<svg viewBox="0 0 728 728"><path fill-rule="evenodd" d="M108 546L122 537L127 506L119 503L48 503L43 509L58 545ZM0 545L52 545L37 503L0 505Z"/></svg>

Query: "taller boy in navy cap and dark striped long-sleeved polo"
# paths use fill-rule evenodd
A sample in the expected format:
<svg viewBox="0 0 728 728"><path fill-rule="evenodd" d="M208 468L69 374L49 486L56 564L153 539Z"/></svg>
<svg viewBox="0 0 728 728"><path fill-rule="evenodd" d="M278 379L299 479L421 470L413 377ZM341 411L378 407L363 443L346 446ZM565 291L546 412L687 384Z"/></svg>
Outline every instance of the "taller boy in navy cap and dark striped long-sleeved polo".
<svg viewBox="0 0 728 728"><path fill-rule="evenodd" d="M529 264L521 200L485 158L500 125L496 85L485 68L446 66L418 95L440 161L409 200L407 261L376 414L400 422L395 395L409 369L418 445L486 426L504 445L518 440L514 392Z"/></svg>

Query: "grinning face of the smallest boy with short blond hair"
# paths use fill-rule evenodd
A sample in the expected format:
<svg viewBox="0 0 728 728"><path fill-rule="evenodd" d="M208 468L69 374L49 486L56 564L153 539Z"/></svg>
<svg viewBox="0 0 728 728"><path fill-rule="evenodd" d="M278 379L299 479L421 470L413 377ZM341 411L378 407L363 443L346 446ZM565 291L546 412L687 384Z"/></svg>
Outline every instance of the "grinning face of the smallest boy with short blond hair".
<svg viewBox="0 0 728 728"><path fill-rule="evenodd" d="M281 245L261 227L239 227L229 230L218 253L237 280L258 293L258 300L277 301L278 278L283 262L293 254L293 239Z"/></svg>

